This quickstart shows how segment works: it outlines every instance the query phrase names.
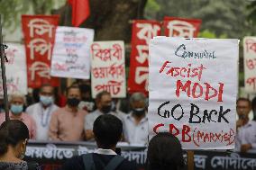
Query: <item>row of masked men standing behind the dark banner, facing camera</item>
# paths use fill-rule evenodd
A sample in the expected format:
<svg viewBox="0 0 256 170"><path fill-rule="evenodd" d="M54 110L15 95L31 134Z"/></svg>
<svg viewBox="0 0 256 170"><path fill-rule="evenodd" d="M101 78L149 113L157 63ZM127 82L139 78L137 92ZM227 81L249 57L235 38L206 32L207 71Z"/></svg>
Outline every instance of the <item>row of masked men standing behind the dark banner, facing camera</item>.
<svg viewBox="0 0 256 170"><path fill-rule="evenodd" d="M71 85L66 90L66 104L55 104L54 88L41 85L39 102L26 105L23 94L11 94L9 98L11 120L23 121L29 130L30 139L41 141L95 141L93 123L103 114L112 114L123 122L123 142L144 146L148 140L147 98L142 93L130 96L130 112L121 112L106 91L89 99L79 85ZM24 108L24 106L26 107ZM5 121L5 113L0 113L0 124Z"/></svg>

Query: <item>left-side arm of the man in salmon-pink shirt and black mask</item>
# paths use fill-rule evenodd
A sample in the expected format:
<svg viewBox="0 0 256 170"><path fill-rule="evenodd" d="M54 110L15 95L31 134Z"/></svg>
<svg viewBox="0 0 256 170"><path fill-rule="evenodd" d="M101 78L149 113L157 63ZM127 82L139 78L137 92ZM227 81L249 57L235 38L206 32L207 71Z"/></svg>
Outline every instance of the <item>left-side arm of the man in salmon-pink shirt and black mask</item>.
<svg viewBox="0 0 256 170"><path fill-rule="evenodd" d="M59 131L59 122L57 112L53 112L50 118L50 127L49 127L49 139L50 140L60 140L58 137Z"/></svg>

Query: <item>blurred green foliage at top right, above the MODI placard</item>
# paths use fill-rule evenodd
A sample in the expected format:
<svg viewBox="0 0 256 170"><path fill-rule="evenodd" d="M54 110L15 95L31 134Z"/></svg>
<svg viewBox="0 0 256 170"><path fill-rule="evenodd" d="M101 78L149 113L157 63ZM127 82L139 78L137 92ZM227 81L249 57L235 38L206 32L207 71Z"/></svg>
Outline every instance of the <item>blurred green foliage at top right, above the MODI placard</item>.
<svg viewBox="0 0 256 170"><path fill-rule="evenodd" d="M149 6L146 6L148 19L162 21L164 16L201 19L201 31L215 32L217 38L225 35L226 38L242 40L246 35L256 34L255 27L247 21L249 14L247 5L255 3L256 8L256 2L251 3L246 0L155 0L155 2L160 5L160 11L153 12ZM253 14L253 17L256 18L256 14Z"/></svg>

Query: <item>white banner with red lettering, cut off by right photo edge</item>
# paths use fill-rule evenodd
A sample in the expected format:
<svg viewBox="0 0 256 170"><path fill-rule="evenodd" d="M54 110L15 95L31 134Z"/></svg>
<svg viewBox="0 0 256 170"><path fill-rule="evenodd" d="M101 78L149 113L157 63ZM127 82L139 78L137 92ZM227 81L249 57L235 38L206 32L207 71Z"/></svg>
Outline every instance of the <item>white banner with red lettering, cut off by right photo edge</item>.
<svg viewBox="0 0 256 170"><path fill-rule="evenodd" d="M244 88L256 94L256 37L243 39Z"/></svg>

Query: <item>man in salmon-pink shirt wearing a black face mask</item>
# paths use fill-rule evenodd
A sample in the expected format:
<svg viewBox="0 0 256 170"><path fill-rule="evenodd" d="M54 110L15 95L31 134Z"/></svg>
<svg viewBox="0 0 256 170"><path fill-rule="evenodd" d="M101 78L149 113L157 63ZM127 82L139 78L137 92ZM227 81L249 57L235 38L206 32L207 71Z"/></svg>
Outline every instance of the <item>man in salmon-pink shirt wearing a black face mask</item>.
<svg viewBox="0 0 256 170"><path fill-rule="evenodd" d="M80 110L81 92L78 86L67 89L67 105L52 113L49 138L60 141L78 141L84 138L86 111Z"/></svg>

